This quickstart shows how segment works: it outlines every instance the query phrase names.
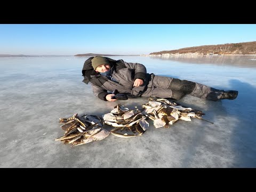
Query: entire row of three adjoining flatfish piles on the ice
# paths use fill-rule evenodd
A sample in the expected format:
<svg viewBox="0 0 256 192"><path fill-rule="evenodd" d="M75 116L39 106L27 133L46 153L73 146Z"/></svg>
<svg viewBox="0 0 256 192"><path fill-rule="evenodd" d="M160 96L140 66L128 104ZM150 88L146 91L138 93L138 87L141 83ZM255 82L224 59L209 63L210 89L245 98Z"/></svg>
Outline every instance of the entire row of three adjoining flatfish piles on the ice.
<svg viewBox="0 0 256 192"><path fill-rule="evenodd" d="M65 134L55 141L78 146L105 139L109 133L121 138L137 137L148 129L149 123L146 119L153 120L156 128L169 128L179 120L191 121L191 118L198 118L207 121L202 118L203 115L201 110L185 107L167 99L149 98L148 103L143 104L141 109L135 107L133 110L118 104L102 117L86 114L78 117L74 114L69 118L59 118L59 123L65 123L61 126ZM115 128L109 132L103 129L105 124Z"/></svg>

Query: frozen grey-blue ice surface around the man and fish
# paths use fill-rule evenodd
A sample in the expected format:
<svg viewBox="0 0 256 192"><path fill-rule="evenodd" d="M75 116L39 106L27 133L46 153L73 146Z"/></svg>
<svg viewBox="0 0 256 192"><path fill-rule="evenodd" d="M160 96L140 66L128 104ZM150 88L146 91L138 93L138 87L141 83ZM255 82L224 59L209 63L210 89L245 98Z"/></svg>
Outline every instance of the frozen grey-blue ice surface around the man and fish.
<svg viewBox="0 0 256 192"><path fill-rule="evenodd" d="M117 103L140 107L147 98L106 102L82 82L88 57L0 58L0 167L256 167L256 61L249 56L111 57L139 62L148 73L187 79L216 89L238 90L235 100L187 95L180 104L202 110L192 118L141 137L70 147L60 117L102 115ZM107 127L110 130L111 127Z"/></svg>

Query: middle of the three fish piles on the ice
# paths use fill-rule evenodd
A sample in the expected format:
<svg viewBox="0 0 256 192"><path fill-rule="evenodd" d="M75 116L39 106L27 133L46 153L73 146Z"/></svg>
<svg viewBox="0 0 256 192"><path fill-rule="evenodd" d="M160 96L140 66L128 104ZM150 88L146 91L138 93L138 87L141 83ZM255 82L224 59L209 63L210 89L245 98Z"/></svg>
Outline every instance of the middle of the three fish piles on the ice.
<svg viewBox="0 0 256 192"><path fill-rule="evenodd" d="M149 127L148 122L145 120L147 117L140 110L129 110L120 104L115 106L110 113L102 115L102 118L107 125L116 127L110 133L122 138L140 136ZM126 133L121 133L124 130Z"/></svg>

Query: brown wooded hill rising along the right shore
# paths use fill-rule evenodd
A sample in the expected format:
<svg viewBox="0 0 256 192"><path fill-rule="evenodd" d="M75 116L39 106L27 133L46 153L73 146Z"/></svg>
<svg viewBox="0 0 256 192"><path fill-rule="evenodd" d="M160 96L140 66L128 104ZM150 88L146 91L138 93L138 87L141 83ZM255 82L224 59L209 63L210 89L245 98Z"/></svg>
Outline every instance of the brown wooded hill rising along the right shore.
<svg viewBox="0 0 256 192"><path fill-rule="evenodd" d="M156 54L185 54L185 53L198 53L198 54L256 54L256 41L244 43L227 43L220 45L202 45L194 47L186 47L179 50L159 51L150 53Z"/></svg>

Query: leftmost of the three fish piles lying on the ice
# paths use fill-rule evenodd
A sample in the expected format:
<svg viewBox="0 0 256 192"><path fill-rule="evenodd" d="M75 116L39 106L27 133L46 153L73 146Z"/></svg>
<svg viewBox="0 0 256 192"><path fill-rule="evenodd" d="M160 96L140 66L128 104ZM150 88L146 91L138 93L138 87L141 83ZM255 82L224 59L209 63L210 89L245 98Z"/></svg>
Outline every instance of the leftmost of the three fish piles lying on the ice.
<svg viewBox="0 0 256 192"><path fill-rule="evenodd" d="M78 117L77 114L74 114L69 118L59 118L59 123L65 123L61 126L65 134L55 141L62 141L64 145L83 145L105 139L109 135L109 131L102 128L104 126L102 118L96 115L85 114Z"/></svg>

